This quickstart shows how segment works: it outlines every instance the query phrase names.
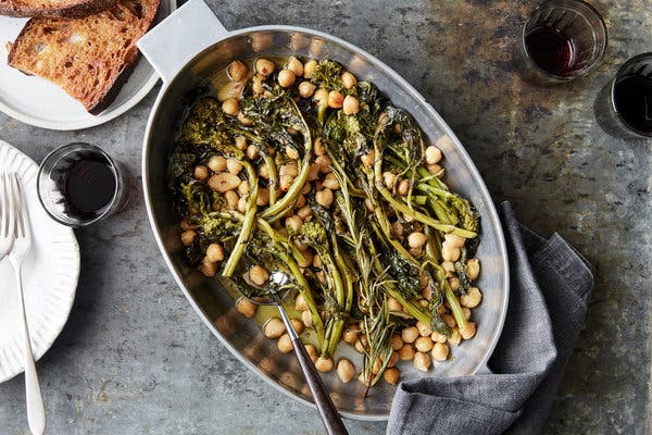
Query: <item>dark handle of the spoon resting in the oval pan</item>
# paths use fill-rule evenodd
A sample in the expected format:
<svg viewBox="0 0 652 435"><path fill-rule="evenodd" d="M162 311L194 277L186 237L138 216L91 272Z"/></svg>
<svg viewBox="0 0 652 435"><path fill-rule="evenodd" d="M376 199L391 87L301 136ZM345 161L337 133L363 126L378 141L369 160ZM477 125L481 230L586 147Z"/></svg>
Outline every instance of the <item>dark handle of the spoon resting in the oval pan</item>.
<svg viewBox="0 0 652 435"><path fill-rule="evenodd" d="M280 311L280 316L283 318L286 328L288 330L288 335L292 340L297 359L299 360L299 364L301 364L301 370L303 371L308 386L313 394L313 399L317 406L326 432L328 435L348 435L349 432L347 432L347 426L344 426L340 414L337 412L335 405L333 405L333 400L330 400L330 396L322 382L322 376L319 376L317 369L315 369L315 364L313 364L310 359L305 346L303 346L303 341L301 341L297 331L294 331L294 326L281 304L278 306L278 311Z"/></svg>

